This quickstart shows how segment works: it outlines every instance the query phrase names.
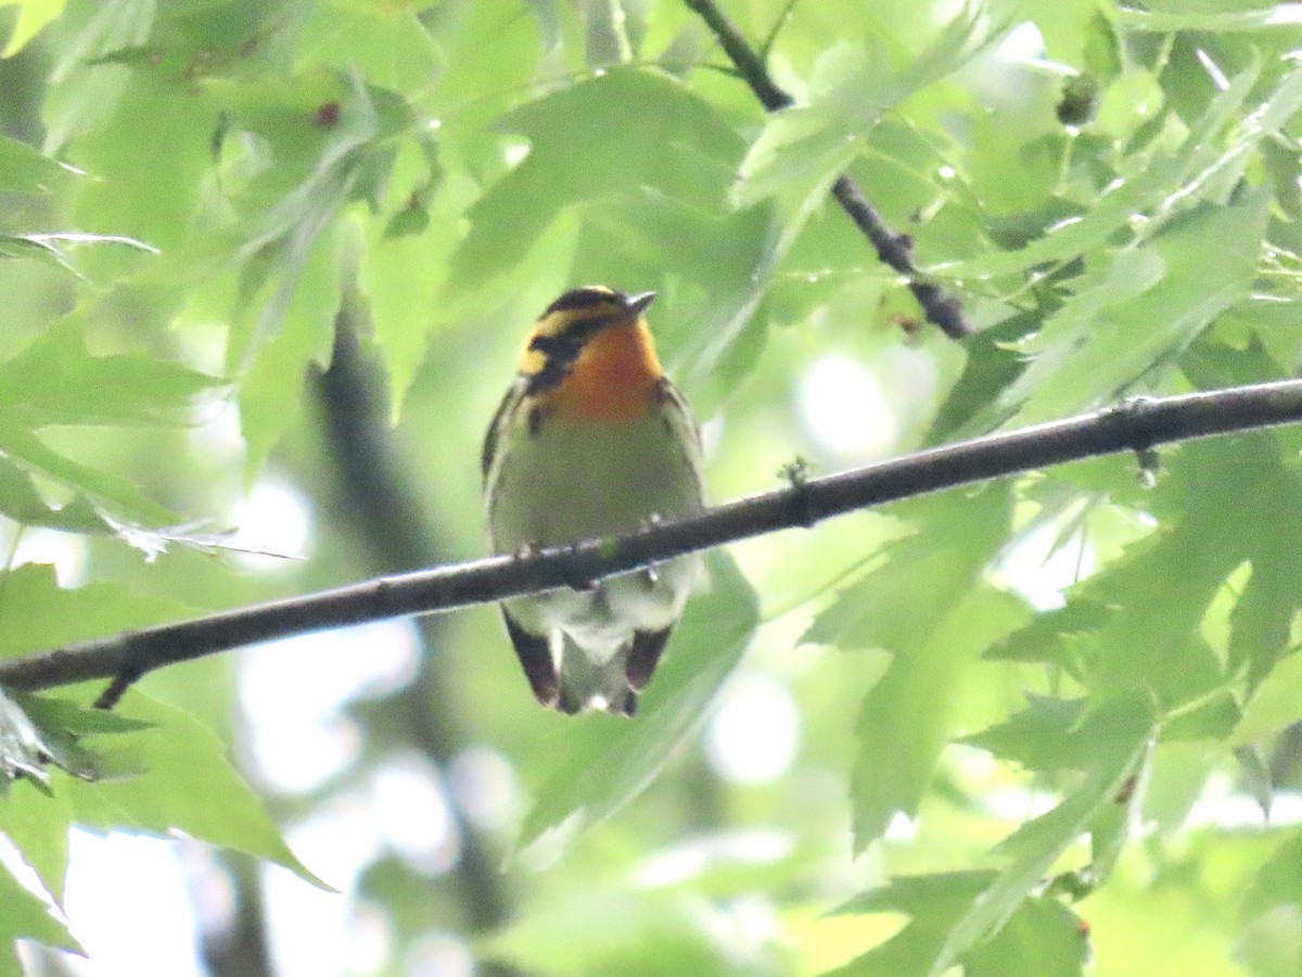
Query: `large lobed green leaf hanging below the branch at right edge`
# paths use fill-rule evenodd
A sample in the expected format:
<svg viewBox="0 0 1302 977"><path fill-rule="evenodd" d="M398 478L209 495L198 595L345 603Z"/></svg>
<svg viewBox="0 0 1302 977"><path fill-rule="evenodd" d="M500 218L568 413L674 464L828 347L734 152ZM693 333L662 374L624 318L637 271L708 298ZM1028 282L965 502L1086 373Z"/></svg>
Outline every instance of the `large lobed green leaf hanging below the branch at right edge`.
<svg viewBox="0 0 1302 977"><path fill-rule="evenodd" d="M1247 672L1255 685L1269 673L1289 646L1280 621L1292 620L1302 599L1282 584L1286 554L1302 545L1294 525L1302 520L1302 483L1277 451L1272 435L1255 434L1172 453L1146 504L1163 530L1131 543L1069 590L1066 607L1038 615L986 657L1052 662L1085 683L1091 703L1143 689L1172 716L1168 739L1229 735L1240 722L1233 676ZM1260 509L1242 504L1245 485ZM1264 524L1262 511L1273 513ZM1229 614L1224 662L1202 628L1245 561L1254 574ZM1275 701L1272 692L1263 718ZM1250 728L1259 731L1258 722Z"/></svg>

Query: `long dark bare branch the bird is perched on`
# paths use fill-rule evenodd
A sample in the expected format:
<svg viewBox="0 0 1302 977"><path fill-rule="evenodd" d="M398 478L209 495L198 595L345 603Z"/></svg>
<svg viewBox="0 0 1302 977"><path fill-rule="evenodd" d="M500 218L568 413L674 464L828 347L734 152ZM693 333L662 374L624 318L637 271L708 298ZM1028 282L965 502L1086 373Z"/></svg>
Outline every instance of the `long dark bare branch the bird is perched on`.
<svg viewBox="0 0 1302 977"><path fill-rule="evenodd" d="M1129 400L1092 414L992 434L902 459L796 482L615 539L491 556L286 601L126 632L0 662L0 685L46 689L176 662L288 634L490 603L622 573L686 552L811 526L884 502L1064 461L1146 452L1159 444L1302 421L1302 380Z"/></svg>

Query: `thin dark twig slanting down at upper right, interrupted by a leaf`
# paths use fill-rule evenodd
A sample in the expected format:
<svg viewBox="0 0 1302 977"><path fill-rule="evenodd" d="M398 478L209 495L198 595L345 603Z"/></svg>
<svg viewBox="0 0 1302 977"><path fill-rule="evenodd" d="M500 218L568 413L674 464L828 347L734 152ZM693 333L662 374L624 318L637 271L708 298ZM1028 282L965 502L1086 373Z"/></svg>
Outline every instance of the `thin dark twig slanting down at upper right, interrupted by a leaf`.
<svg viewBox="0 0 1302 977"><path fill-rule="evenodd" d="M684 0L684 3L706 22L724 53L736 66L737 74L750 86L764 108L769 112L779 112L796 103L790 95L773 83L764 60L751 50L741 31L737 30L737 25L728 20L713 0ZM786 13L789 10L790 8ZM784 18L786 13L783 14ZM771 43L772 38L768 40L768 44ZM766 52L768 44L766 44ZM958 300L945 294L940 285L934 281L927 281L926 275L913 263L913 238L887 227L876 207L868 202L858 184L849 176L837 177L837 181L832 184L832 195L841 205L841 210L872 242L878 251L878 259L909 280L909 290L922 306L927 322L939 326L950 339L971 335L974 330L963 317L963 309Z"/></svg>

